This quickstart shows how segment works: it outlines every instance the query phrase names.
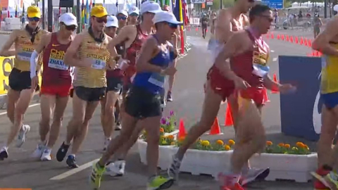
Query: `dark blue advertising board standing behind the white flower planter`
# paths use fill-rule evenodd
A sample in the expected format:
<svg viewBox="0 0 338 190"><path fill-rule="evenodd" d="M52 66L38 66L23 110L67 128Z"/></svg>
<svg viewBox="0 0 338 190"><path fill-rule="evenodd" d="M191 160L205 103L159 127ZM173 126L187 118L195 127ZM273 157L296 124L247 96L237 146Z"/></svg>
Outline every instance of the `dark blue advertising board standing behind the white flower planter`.
<svg viewBox="0 0 338 190"><path fill-rule="evenodd" d="M322 127L320 58L279 56L278 61L280 82L297 87L294 94L280 94L282 133L316 141Z"/></svg>

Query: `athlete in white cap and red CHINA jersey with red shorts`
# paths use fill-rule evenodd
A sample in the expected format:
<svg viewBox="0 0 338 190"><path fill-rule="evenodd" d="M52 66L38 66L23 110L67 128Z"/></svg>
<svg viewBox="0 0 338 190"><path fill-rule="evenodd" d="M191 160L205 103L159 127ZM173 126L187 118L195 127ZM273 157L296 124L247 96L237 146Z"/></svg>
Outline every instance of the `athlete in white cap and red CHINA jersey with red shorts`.
<svg viewBox="0 0 338 190"><path fill-rule="evenodd" d="M36 70L37 56L43 52L42 86L41 86L41 113L40 141L33 153L34 158L51 160L53 148L60 132L65 107L68 103L72 76L70 66L63 63L65 52L73 41L73 32L77 28L75 15L64 13L59 18L60 30L44 35L44 40L37 46L30 58L30 77L32 88L37 86L39 79ZM51 120L53 120L52 124ZM49 138L47 141L47 134Z"/></svg>

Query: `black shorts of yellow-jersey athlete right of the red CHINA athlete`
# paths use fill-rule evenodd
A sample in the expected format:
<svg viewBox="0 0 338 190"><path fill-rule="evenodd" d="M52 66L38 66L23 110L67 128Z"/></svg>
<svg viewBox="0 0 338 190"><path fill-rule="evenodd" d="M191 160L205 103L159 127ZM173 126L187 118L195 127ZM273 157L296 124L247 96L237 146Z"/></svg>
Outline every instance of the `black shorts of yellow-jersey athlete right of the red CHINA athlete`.
<svg viewBox="0 0 338 190"><path fill-rule="evenodd" d="M84 101L100 101L106 96L106 87L101 88L87 88L87 87L74 87L77 97Z"/></svg>

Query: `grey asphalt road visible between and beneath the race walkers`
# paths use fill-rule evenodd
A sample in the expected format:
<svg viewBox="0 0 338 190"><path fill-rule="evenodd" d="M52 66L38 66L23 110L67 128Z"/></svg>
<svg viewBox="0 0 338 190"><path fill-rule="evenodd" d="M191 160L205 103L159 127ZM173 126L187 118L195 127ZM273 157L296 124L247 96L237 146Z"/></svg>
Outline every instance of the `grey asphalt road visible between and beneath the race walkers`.
<svg viewBox="0 0 338 190"><path fill-rule="evenodd" d="M199 31L200 32L200 31ZM206 50L208 39L201 38L201 33L192 30L188 32L187 40L192 44L192 49L188 55L181 58L177 65L177 77L173 89L173 103L168 103L164 115L168 115L170 110L177 113L177 119L183 118L185 126L189 128L201 115L201 104L204 98L203 84L206 80L206 72L211 66L211 52ZM7 37L0 37L1 42ZM207 37L208 38L208 37ZM279 55L301 55L311 52L308 47L289 42L282 42L277 39L267 39L270 45L270 68L273 73L278 73L278 56ZM268 139L277 142L293 143L301 139L286 137L280 134L280 101L278 94L270 94L270 103L263 109L263 122L268 133ZM95 160L101 156L101 149L104 144L104 134L100 124L100 108L96 109L94 118L89 125L89 133L82 145L81 152L77 154L77 163L83 167L84 164ZM0 144L4 141L9 132L10 122L6 118L6 110L0 111ZM224 123L225 105L220 109L218 119L221 124ZM58 147L65 139L65 126L72 116L72 103L68 103L63 119L63 127L60 137L54 147L53 154L56 154ZM76 172L67 177L70 170L65 163L58 163L56 160L51 162L40 162L32 160L30 154L35 150L37 141L39 141L38 126L40 118L39 104L32 102L25 115L25 124L31 126L31 131L22 148L11 146L9 149L9 158L0 162L0 189L1 188L31 188L34 190L74 190L89 189L87 179L89 168ZM232 127L222 127L225 135L223 139L234 137ZM117 134L117 133L116 133ZM311 148L315 148L314 142L306 141ZM139 190L145 189L146 184L146 166L139 162L137 146L134 146L127 158L126 172L123 178L104 177L102 189L117 190ZM51 180L58 175L63 179ZM209 176L194 176L190 174L180 175L180 182L171 189L191 189L207 190L218 189L217 182ZM295 182L258 182L247 189L269 189L269 190L296 190L311 189L311 183Z"/></svg>

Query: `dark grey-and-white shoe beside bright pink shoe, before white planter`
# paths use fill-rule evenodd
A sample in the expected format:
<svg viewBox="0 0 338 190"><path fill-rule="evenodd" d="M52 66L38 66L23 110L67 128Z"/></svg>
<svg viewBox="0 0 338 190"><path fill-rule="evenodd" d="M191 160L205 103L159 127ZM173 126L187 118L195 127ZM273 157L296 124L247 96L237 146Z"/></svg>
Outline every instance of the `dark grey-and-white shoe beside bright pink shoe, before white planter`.
<svg viewBox="0 0 338 190"><path fill-rule="evenodd" d="M257 168L250 168L245 175L242 175L239 179L239 184L242 186L249 184L254 181L262 181L266 177L268 177L270 173L270 168L266 169L257 169Z"/></svg>

